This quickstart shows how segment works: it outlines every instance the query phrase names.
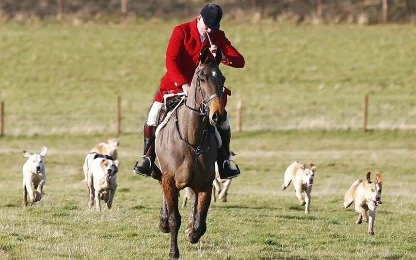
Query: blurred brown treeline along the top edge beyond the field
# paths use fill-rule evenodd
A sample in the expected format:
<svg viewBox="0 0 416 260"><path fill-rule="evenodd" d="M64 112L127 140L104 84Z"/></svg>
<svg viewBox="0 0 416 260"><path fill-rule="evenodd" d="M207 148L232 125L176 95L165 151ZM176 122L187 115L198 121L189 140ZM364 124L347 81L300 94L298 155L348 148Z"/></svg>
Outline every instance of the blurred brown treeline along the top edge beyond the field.
<svg viewBox="0 0 416 260"><path fill-rule="evenodd" d="M51 16L174 18L198 14L211 0L0 0L0 19ZM415 0L217 0L225 16L295 22L412 22Z"/></svg>

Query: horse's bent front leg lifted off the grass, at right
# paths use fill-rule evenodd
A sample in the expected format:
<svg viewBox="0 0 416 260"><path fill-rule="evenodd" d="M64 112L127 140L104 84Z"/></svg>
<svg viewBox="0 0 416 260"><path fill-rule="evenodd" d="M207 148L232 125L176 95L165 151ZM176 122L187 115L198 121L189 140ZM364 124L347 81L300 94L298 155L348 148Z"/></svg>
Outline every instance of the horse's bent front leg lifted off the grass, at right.
<svg viewBox="0 0 416 260"><path fill-rule="evenodd" d="M211 193L212 183L208 184L202 191L195 193L195 220L192 230L188 231L187 233L187 238L192 244L198 243L199 239L202 237L202 235L204 235L205 231L207 231L206 220L209 204L211 203Z"/></svg>

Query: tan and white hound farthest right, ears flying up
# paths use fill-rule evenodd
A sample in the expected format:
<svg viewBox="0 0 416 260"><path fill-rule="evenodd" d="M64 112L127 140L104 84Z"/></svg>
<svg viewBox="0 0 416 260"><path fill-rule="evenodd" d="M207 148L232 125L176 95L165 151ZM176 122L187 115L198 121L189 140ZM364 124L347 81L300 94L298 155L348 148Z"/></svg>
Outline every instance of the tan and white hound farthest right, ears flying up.
<svg viewBox="0 0 416 260"><path fill-rule="evenodd" d="M357 179L354 181L344 195L344 208L351 206L355 202L355 212L358 213L356 224L362 221L368 222L368 234L374 235L374 221L376 219L377 206L383 204L381 201L381 192L383 178L379 172L376 173L377 181L371 180L371 172L367 172L367 181ZM367 211L370 211L369 221Z"/></svg>

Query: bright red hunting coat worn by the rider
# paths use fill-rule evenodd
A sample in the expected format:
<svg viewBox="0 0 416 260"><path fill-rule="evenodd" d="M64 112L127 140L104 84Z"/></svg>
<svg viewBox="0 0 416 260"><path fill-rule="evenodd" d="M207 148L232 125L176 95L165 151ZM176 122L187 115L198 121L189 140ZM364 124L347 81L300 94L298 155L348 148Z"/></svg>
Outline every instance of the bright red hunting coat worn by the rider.
<svg viewBox="0 0 416 260"><path fill-rule="evenodd" d="M209 33L212 44L223 51L226 61L222 62L235 68L244 67L244 57L235 49L221 30L213 30ZM184 83L191 83L195 69L198 66L199 53L209 46L208 37L201 43L200 34L196 27L196 19L180 24L174 28L166 50L167 72L160 82L159 92L155 101L162 102L163 95L177 93L182 90ZM210 58L213 59L211 54ZM224 105L226 95L231 96L231 91L224 91Z"/></svg>

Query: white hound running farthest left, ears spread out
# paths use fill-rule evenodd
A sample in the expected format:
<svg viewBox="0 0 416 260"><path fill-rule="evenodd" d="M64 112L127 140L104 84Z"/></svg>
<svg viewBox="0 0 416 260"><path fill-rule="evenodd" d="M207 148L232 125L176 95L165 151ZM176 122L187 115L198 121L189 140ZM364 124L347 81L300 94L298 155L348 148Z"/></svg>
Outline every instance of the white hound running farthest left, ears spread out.
<svg viewBox="0 0 416 260"><path fill-rule="evenodd" d="M27 195L34 203L42 199L43 187L46 184L46 172L44 157L48 152L46 146L42 147L40 154L30 154L23 150L23 156L28 160L23 164L23 198L22 205L27 206ZM36 190L36 194L33 194L33 190Z"/></svg>

